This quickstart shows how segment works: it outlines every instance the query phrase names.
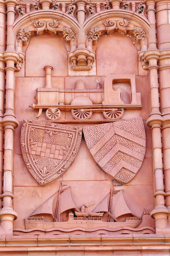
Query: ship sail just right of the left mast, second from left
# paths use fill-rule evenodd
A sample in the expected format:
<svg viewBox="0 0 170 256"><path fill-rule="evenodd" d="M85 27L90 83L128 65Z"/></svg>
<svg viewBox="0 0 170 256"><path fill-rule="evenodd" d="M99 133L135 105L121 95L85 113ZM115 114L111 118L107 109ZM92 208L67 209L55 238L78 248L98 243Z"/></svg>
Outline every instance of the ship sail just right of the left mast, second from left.
<svg viewBox="0 0 170 256"><path fill-rule="evenodd" d="M69 209L76 209L76 211L79 212L79 210L76 208L76 206L73 203L73 199L71 197L70 187L66 188L61 194L59 199L59 212L60 214L62 212L65 212Z"/></svg>

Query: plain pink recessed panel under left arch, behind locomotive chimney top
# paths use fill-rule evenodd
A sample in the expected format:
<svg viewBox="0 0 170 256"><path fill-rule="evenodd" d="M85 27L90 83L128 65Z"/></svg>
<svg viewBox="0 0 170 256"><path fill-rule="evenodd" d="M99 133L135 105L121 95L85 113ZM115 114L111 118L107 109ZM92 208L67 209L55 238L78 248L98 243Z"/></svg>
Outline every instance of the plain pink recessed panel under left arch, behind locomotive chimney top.
<svg viewBox="0 0 170 256"><path fill-rule="evenodd" d="M58 36L33 36L26 49L26 76L44 76L44 66L53 67L52 76L67 76L67 50Z"/></svg>

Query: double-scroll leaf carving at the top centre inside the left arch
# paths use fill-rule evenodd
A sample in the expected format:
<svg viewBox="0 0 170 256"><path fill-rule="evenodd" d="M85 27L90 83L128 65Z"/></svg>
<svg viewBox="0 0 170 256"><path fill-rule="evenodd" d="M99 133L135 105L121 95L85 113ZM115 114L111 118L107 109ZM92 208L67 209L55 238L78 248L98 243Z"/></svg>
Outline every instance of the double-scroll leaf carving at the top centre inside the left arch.
<svg viewBox="0 0 170 256"><path fill-rule="evenodd" d="M33 25L37 31L37 35L41 35L44 30L48 30L50 33L56 35L56 28L59 25L59 21L55 19L49 21L35 20L33 21Z"/></svg>

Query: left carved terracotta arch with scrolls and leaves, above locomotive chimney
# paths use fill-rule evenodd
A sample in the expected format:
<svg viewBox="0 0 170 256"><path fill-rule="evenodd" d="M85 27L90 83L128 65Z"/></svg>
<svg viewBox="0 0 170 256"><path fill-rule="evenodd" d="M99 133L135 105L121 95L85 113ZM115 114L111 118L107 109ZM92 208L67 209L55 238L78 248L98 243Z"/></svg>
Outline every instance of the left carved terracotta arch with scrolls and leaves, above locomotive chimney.
<svg viewBox="0 0 170 256"><path fill-rule="evenodd" d="M16 40L16 51L22 52L22 45L26 44L30 36L41 35L48 31L52 35L65 38L74 49L77 47L76 37L80 28L78 21L66 13L36 12L25 14L13 24L13 33Z"/></svg>

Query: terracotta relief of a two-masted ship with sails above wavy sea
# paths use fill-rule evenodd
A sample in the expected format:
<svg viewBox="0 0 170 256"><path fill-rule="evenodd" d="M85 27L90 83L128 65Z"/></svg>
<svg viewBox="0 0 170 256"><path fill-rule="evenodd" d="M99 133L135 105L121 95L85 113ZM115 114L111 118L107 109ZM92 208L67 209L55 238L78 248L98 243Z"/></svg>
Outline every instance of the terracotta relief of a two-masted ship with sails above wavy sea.
<svg viewBox="0 0 170 256"><path fill-rule="evenodd" d="M93 203L92 203L93 202ZM95 202L92 201L90 205ZM86 204L79 210L71 197L70 187L51 196L46 202L40 205L28 218L25 219L26 229L30 228L115 228L130 227L136 228L142 218L132 213L123 197L123 190L111 191L92 210L85 212ZM68 213L68 220L62 221L63 213Z"/></svg>

